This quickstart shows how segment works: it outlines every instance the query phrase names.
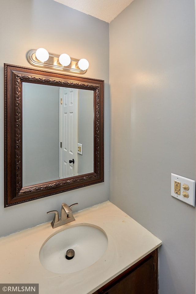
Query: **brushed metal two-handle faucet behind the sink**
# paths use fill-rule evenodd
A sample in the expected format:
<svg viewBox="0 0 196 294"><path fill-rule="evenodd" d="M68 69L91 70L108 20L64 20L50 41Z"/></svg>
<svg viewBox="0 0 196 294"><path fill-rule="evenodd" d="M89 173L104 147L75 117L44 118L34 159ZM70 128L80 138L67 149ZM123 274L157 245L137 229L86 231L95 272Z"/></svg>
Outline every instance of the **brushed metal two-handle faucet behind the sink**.
<svg viewBox="0 0 196 294"><path fill-rule="evenodd" d="M70 206L68 206L66 203L62 203L62 206L61 206L61 217L59 218L59 215L58 215L58 211L57 210L51 210L51 211L48 211L48 213L55 213L55 216L51 222L51 225L53 228L57 228L59 226L62 226L63 224L68 224L70 223L71 221L74 221L75 218L73 216L73 211L71 209L72 206L74 205L77 205L78 203L74 203Z"/></svg>

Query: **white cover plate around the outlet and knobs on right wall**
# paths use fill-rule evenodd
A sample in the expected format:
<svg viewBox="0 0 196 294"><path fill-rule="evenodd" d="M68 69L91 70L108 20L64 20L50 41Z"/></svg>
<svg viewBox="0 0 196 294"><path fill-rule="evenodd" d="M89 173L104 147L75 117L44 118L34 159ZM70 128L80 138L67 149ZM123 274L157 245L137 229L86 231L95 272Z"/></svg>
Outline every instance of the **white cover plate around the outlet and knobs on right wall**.
<svg viewBox="0 0 196 294"><path fill-rule="evenodd" d="M174 192L174 181L180 182L180 195L175 194ZM189 186L188 191L183 189L183 184L187 184ZM183 191L188 192L189 198L182 195ZM195 206L195 181L171 173L171 196L186 202L189 205Z"/></svg>

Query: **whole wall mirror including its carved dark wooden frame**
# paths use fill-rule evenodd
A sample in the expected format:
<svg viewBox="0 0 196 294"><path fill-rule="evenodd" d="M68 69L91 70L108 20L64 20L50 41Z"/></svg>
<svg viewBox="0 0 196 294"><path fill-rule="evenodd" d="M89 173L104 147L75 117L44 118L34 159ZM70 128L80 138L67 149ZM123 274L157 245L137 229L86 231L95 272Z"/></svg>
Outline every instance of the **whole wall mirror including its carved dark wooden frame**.
<svg viewBox="0 0 196 294"><path fill-rule="evenodd" d="M5 207L104 181L104 81L4 64Z"/></svg>

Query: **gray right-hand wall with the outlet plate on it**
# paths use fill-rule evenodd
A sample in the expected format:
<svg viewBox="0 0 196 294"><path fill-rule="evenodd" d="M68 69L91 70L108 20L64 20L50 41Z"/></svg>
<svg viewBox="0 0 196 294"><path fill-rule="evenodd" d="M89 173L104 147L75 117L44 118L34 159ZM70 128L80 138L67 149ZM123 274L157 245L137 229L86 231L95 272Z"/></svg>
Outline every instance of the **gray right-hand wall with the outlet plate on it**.
<svg viewBox="0 0 196 294"><path fill-rule="evenodd" d="M110 23L110 200L158 236L160 294L195 293L194 0L135 0Z"/></svg>

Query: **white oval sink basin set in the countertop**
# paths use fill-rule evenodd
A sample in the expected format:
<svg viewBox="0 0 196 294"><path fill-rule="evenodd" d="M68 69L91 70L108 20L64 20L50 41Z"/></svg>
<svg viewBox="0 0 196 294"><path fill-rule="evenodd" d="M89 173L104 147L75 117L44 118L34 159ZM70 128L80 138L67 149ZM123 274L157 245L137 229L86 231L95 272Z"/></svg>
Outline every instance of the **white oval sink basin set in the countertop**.
<svg viewBox="0 0 196 294"><path fill-rule="evenodd" d="M77 225L48 239L40 249L40 262L53 273L74 273L95 263L107 249L107 236L101 228ZM66 251L73 249L72 259Z"/></svg>

